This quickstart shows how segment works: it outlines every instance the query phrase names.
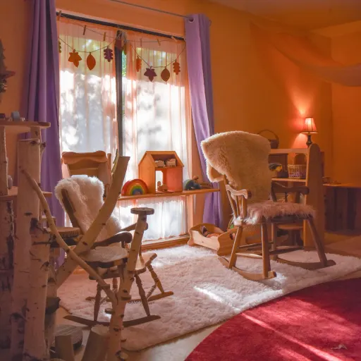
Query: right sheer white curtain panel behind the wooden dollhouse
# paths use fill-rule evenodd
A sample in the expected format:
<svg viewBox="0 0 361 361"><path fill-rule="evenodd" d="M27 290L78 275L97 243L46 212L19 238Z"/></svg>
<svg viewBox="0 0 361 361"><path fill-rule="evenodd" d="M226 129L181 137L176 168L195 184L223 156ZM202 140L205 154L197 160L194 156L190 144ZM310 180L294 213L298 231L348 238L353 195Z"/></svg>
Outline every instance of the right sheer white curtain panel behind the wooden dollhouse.
<svg viewBox="0 0 361 361"><path fill-rule="evenodd" d="M126 180L138 178L137 164L147 150L175 150L185 165L183 179L188 172L188 131L190 106L185 43L135 32L127 34L130 46L127 51L123 121L123 154L130 156ZM181 66L181 73L173 73L173 62ZM144 59L137 72L137 56ZM144 75L147 68L154 67L157 76L151 82ZM168 68L168 82L161 79L161 72ZM159 68L156 68L159 67ZM159 172L160 173L160 172ZM121 223L133 221L131 207L152 207L149 228L145 239L169 238L187 233L187 209L185 197L164 197L142 201L121 202Z"/></svg>

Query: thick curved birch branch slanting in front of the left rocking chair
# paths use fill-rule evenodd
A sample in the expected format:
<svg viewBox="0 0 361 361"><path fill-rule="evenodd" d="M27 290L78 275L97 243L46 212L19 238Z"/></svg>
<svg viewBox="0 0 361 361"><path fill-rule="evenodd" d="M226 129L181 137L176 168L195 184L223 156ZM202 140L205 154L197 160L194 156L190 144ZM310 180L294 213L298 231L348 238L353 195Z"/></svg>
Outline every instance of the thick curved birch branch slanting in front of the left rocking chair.
<svg viewBox="0 0 361 361"><path fill-rule="evenodd" d="M76 245L74 248L74 252L77 255L90 250L100 231L102 231L106 225L106 222L111 216L111 213L114 211L118 197L121 195L121 186L123 185L123 181L126 176L129 159L130 157L119 157L109 188L108 196L106 197L102 208L99 210L97 217L92 222L92 225L85 232L82 240L80 240L78 245ZM71 276L77 265L78 264L73 259L66 259L63 265L59 268L59 271L56 275L56 283L58 287L60 287L63 282L68 279L68 276Z"/></svg>

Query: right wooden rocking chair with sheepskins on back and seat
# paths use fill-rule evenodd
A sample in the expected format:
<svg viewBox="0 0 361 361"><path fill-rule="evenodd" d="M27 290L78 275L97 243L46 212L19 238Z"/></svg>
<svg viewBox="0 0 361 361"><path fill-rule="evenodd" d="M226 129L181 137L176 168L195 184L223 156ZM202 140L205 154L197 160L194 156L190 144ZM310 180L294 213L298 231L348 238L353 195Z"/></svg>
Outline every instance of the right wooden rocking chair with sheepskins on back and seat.
<svg viewBox="0 0 361 361"><path fill-rule="evenodd" d="M314 226L314 209L307 204L274 202L269 200L271 194L271 172L269 171L269 141L251 133L233 131L212 135L202 143L202 151L207 160L207 175L210 181L226 183L228 200L237 228L231 258L219 257L219 260L247 279L271 279L276 276L271 271L270 255L279 262L293 264L306 269L320 269L333 266L334 261L327 260L324 246ZM305 186L287 188L275 185L277 192L296 192L306 195L309 190ZM322 215L323 216L323 215ZM300 246L277 247L276 224L293 221L306 221L310 226L314 245L319 255L319 262L290 262L277 255L299 250ZM271 226L272 240L269 243L267 226ZM262 231L262 242L251 245L240 245L243 229L247 226L259 226ZM271 245L271 250L269 247ZM261 248L261 252L245 253ZM263 259L263 272L259 274L243 271L235 267L238 256Z"/></svg>

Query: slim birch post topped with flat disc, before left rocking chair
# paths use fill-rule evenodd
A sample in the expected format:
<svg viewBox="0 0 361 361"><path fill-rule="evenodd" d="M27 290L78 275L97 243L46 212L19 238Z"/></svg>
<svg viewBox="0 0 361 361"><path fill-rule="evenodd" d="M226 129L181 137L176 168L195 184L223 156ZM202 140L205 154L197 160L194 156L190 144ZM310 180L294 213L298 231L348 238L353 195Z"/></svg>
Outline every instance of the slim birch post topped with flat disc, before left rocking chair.
<svg viewBox="0 0 361 361"><path fill-rule="evenodd" d="M142 246L143 233L147 229L147 214L154 214L154 209L133 208L130 211L138 214L137 224L135 226L133 241L130 244L129 256L126 265L119 267L119 273L123 274L118 290L117 304L113 307L113 314L109 325L109 349L107 361L123 361L126 355L121 351L121 331L123 329L123 318L126 310L126 304L130 302L130 288L134 281L135 265Z"/></svg>

